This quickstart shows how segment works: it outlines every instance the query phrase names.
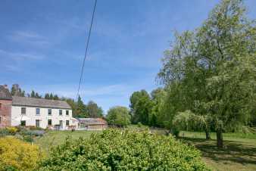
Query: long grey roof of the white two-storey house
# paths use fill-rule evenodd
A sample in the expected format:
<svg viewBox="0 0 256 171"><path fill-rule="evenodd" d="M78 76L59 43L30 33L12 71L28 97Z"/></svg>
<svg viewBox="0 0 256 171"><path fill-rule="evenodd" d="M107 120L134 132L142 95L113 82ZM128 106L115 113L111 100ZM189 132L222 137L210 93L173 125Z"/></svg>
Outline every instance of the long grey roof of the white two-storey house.
<svg viewBox="0 0 256 171"><path fill-rule="evenodd" d="M71 109L70 105L67 104L67 101L55 101L42 98L27 98L19 96L12 96L12 99L12 105L14 106Z"/></svg>

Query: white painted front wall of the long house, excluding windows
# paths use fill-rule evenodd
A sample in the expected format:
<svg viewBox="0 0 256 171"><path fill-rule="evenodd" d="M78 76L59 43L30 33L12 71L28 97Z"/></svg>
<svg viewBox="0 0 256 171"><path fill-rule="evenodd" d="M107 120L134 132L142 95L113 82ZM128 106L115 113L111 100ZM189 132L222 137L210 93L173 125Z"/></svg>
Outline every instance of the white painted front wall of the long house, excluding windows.
<svg viewBox="0 0 256 171"><path fill-rule="evenodd" d="M40 114L36 115L36 108L40 108ZM59 124L60 120L63 120L63 128L66 127L66 120L70 121L70 126L72 123L72 110L69 110L69 115L66 116L67 109L62 110L62 116L59 115L60 109L52 109L52 116L48 115L48 108L42 107L26 107L26 114L23 116L29 117L30 120L26 120L26 126L36 126L36 120L40 120L40 127L45 129L48 126L48 120L52 120L52 126ZM11 107L11 126L19 126L20 120L16 120L21 117L21 106Z"/></svg>

